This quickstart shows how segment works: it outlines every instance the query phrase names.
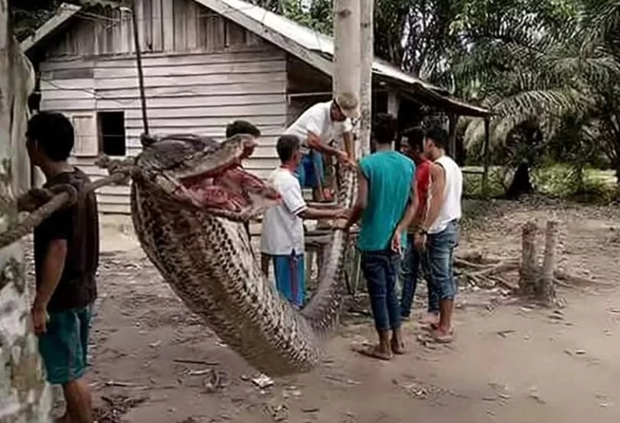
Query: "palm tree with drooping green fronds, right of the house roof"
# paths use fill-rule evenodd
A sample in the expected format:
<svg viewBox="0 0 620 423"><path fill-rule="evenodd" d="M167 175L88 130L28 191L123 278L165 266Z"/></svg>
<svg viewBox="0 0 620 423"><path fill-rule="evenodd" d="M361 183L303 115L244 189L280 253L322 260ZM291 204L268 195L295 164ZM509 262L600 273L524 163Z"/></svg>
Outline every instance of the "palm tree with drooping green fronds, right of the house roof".
<svg viewBox="0 0 620 423"><path fill-rule="evenodd" d="M551 141L570 118L582 123L580 139L599 143L620 184L619 18L619 0L584 0L565 25L524 21L510 29L518 36L482 39L452 67L497 114L495 146L532 123ZM475 151L482 135L482 122L471 121L466 145Z"/></svg>

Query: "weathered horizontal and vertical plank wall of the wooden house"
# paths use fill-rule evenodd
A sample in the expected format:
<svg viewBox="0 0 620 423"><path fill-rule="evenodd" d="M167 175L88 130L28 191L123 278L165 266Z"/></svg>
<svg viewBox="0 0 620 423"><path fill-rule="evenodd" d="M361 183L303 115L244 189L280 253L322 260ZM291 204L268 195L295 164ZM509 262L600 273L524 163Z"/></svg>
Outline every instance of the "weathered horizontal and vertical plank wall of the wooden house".
<svg viewBox="0 0 620 423"><path fill-rule="evenodd" d="M284 51L248 36L238 25L191 0L142 1L140 9L153 16L149 25L140 25L151 34L145 42L150 40L149 48L160 49L147 51L143 58L151 132L190 132L221 139L227 123L247 119L264 136L244 165L266 177L277 166L275 141L287 121ZM188 25L189 12L196 18L195 25ZM161 19L166 16L173 21ZM64 46L64 53L52 49L40 63L42 110L63 112L73 120L77 142L72 160L94 179L106 175L93 165L99 151L97 112L125 112L128 156L141 151L142 133L131 32L120 26L112 37L95 32L90 44L76 41L86 37L87 29L93 39L92 30L98 25L98 21L80 21L55 44ZM172 40L166 27L174 31ZM163 51L169 48L174 51ZM101 211L129 213L128 193L125 186L102 189Z"/></svg>

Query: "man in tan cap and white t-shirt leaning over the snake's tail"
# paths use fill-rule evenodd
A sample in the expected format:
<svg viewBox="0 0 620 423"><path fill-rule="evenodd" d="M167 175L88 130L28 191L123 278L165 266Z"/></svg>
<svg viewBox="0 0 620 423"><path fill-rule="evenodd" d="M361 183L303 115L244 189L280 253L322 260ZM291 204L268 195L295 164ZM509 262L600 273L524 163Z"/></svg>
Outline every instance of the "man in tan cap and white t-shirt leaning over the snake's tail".
<svg viewBox="0 0 620 423"><path fill-rule="evenodd" d="M357 117L357 111L356 95L343 93L331 101L314 104L284 132L301 141L302 157L297 175L303 188L313 189L315 200L319 198L318 190L324 178L321 154L336 156L343 165L355 166L351 119ZM330 145L332 139L336 140L336 147Z"/></svg>

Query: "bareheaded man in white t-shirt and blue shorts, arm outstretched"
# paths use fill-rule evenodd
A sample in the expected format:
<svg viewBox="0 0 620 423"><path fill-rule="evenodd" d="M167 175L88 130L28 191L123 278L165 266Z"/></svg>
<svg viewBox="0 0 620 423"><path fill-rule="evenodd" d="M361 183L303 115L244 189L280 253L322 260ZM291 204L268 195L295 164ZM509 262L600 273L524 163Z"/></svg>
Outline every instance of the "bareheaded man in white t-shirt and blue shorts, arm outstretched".
<svg viewBox="0 0 620 423"><path fill-rule="evenodd" d="M271 173L270 182L280 193L282 204L265 210L260 235L263 273L269 275L271 260L278 291L299 307L303 306L306 282L302 219L347 218L346 209L320 210L306 205L295 176L301 162L300 145L295 135L284 135L277 140L277 156L282 163Z"/></svg>

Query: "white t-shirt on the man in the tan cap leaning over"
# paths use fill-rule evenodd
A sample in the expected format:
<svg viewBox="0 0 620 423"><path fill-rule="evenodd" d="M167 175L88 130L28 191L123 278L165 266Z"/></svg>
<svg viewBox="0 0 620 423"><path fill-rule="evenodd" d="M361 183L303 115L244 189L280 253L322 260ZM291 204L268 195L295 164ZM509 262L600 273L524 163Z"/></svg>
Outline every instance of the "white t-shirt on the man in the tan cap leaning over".
<svg viewBox="0 0 620 423"><path fill-rule="evenodd" d="M301 116L297 118L297 121L293 122L284 132L286 135L296 135L299 137L302 147L301 152L303 154L307 154L309 151L307 144L308 132L317 134L324 144L335 139L338 143L338 147L342 149L343 134L353 130L353 124L348 117L342 122L332 121L332 115L330 114L332 101L314 104L314 106L303 112Z"/></svg>

